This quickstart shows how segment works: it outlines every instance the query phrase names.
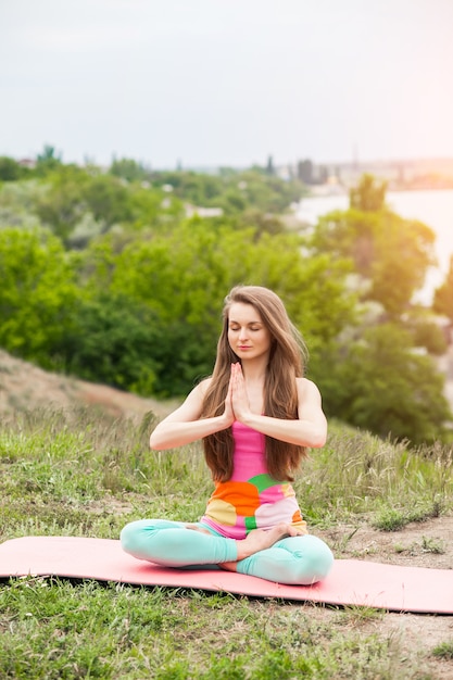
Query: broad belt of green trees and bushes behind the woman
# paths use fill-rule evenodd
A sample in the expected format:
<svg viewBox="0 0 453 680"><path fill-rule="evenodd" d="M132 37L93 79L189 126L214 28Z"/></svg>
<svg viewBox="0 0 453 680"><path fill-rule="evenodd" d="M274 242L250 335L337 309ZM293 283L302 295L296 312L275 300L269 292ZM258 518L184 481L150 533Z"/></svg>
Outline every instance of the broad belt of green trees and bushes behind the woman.
<svg viewBox="0 0 453 680"><path fill-rule="evenodd" d="M158 173L126 159L101 171L47 148L32 169L0 159L0 177L5 350L142 395L183 395L212 369L226 292L263 285L301 329L329 417L415 444L451 438L432 360L445 340L411 304L435 236L389 211L373 178L348 211L295 234L281 213L304 187L267 168ZM187 217L187 204L219 210Z"/></svg>

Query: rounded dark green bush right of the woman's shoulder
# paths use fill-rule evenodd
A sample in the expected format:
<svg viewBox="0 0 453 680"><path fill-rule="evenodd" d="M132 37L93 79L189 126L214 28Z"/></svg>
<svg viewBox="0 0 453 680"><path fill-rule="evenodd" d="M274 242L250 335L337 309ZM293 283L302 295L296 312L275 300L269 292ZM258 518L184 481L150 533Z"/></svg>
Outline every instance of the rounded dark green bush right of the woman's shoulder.
<svg viewBox="0 0 453 680"><path fill-rule="evenodd" d="M445 437L452 414L443 376L429 356L414 352L401 326L368 328L327 360L317 378L330 417L413 444Z"/></svg>

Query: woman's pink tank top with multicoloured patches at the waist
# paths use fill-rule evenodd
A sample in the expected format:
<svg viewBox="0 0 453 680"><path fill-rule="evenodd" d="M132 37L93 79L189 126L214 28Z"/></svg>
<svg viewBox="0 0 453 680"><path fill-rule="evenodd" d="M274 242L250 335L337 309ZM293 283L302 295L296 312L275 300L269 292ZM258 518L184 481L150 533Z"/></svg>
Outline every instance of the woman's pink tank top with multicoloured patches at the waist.
<svg viewBox="0 0 453 680"><path fill-rule="evenodd" d="M306 531L292 486L267 473L264 435L235 421L232 437L232 476L215 483L201 521L237 540L252 529L270 529L281 521Z"/></svg>

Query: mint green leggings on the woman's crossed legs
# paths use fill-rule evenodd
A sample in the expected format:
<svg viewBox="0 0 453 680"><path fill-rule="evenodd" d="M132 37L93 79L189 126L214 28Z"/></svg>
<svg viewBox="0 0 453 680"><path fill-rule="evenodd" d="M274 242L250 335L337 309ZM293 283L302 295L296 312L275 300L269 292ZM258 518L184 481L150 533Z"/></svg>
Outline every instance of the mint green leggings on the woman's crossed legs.
<svg viewBox="0 0 453 680"><path fill-rule="evenodd" d="M205 567L237 561L234 539L227 539L207 525L210 534L188 529L183 521L139 519L121 532L123 550L165 567ZM330 549L315 536L289 537L237 563L240 574L277 583L309 585L324 579L334 564Z"/></svg>

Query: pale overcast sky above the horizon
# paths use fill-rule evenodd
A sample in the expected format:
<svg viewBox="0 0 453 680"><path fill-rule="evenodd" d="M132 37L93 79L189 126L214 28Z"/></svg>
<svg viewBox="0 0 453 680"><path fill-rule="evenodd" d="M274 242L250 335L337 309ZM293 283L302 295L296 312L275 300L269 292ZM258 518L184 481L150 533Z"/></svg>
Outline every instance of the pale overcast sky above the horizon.
<svg viewBox="0 0 453 680"><path fill-rule="evenodd" d="M453 0L0 0L0 155L453 158Z"/></svg>

